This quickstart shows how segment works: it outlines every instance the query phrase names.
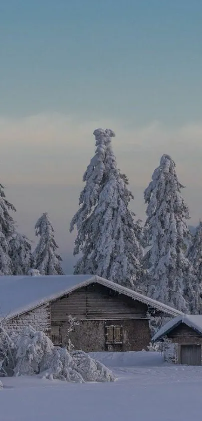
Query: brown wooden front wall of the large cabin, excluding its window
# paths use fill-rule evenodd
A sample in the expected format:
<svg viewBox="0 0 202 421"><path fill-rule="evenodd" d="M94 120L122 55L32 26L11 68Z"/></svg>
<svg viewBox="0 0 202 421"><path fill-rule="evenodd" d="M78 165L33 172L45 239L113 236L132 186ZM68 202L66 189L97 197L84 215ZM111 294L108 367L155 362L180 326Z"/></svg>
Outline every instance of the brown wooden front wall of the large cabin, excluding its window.
<svg viewBox="0 0 202 421"><path fill-rule="evenodd" d="M91 284L51 303L54 331L60 327L67 345L68 316L79 320L71 333L75 349L90 351L141 351L150 341L147 305L108 288ZM107 326L121 327L121 343L107 343Z"/></svg>

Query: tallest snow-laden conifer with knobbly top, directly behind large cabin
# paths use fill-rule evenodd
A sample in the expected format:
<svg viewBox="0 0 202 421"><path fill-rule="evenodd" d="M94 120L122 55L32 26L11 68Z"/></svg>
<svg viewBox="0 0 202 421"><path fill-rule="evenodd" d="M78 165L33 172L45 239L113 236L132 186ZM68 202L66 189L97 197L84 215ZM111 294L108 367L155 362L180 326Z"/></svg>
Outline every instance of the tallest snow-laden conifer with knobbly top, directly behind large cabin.
<svg viewBox="0 0 202 421"><path fill-rule="evenodd" d="M72 219L78 235L74 255L82 253L75 273L92 273L134 288L142 276L140 225L129 210L128 179L117 168L110 129L96 129L96 153L84 174L81 205Z"/></svg>

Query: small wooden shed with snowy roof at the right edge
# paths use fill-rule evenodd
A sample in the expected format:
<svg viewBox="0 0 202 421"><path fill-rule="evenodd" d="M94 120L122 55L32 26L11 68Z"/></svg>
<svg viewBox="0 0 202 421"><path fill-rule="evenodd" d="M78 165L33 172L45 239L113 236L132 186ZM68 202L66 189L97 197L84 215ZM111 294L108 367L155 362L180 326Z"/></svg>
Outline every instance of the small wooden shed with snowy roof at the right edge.
<svg viewBox="0 0 202 421"><path fill-rule="evenodd" d="M201 365L202 315L183 315L166 323L152 342L168 339L175 344L177 364Z"/></svg>

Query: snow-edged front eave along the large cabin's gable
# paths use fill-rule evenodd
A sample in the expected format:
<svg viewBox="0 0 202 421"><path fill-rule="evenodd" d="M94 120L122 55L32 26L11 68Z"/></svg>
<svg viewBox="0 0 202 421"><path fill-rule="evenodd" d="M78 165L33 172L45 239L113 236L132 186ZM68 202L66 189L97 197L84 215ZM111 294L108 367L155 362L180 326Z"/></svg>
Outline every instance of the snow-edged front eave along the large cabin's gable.
<svg viewBox="0 0 202 421"><path fill-rule="evenodd" d="M78 290L79 288L86 287L86 286L88 286L90 284L93 284L93 283L101 284L105 287L108 287L108 288L116 291L119 294L123 294L127 297L132 298L133 300L137 300L137 301L139 301L143 304L146 304L150 307L155 308L156 310L162 311L163 313L168 314L170 316L176 317L176 316L179 316L179 315L183 315L182 312L180 312L180 311L178 311L178 310L176 310L172 307L169 307L165 304L159 303L158 301L155 301L155 300L153 300L149 297L146 297L146 296L144 296L140 293L137 293L135 291L132 291L128 288L125 288L125 287L123 287L119 284L115 284L114 282L112 282L110 280L107 280L107 279L102 278L102 277L97 276L97 275L93 275L93 276L89 277L87 280L81 282L80 284L77 284L77 285L72 286L70 288L66 288L65 290L62 290L62 291L58 292L57 294L52 294L50 296L47 296L46 298L38 300L37 302L33 302L33 303L27 305L24 308L19 308L19 309L15 310L14 312L9 313L5 318L0 318L0 320L2 320L2 319L7 319L7 320L13 319L13 318L18 317L22 314L28 313L29 311L32 311L32 310L34 310L38 307L41 307L45 304L48 304L52 301L55 301L55 300L61 298L62 296L66 295L66 294L71 294L72 292Z"/></svg>

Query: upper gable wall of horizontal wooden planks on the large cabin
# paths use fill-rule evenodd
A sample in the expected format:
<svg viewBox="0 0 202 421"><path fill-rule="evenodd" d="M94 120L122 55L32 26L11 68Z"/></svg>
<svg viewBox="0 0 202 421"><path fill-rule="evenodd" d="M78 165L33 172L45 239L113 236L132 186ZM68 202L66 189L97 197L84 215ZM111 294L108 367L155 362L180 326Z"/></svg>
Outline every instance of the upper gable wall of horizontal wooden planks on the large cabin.
<svg viewBox="0 0 202 421"><path fill-rule="evenodd" d="M86 319L145 318L147 306L108 288L91 284L51 303L51 321L66 321L68 315Z"/></svg>

